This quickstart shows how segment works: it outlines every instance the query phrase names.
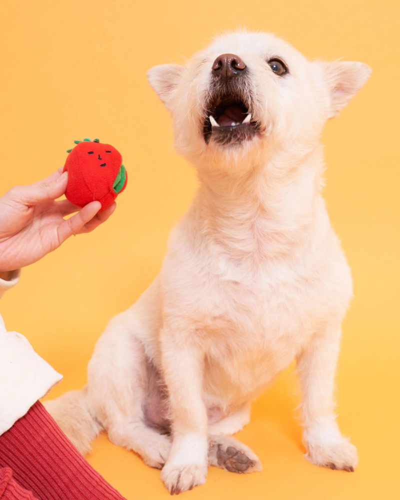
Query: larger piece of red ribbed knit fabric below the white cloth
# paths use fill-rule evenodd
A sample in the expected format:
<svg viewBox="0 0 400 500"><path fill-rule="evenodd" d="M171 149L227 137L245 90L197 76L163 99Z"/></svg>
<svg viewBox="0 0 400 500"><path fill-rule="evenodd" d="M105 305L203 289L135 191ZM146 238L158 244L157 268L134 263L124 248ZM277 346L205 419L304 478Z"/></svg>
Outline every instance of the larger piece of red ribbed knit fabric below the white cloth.
<svg viewBox="0 0 400 500"><path fill-rule="evenodd" d="M89 465L39 401L0 436L0 467L11 468L15 481L39 500L125 500Z"/></svg>

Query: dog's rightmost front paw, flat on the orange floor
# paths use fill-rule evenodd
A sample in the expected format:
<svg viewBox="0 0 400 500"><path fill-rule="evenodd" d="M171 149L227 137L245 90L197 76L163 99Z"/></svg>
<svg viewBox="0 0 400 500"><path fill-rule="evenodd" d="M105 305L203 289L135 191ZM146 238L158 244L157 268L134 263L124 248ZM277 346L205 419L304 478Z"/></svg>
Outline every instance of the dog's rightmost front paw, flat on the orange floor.
<svg viewBox="0 0 400 500"><path fill-rule="evenodd" d="M358 463L356 447L344 437L333 444L308 443L307 449L305 458L315 465L353 472Z"/></svg>

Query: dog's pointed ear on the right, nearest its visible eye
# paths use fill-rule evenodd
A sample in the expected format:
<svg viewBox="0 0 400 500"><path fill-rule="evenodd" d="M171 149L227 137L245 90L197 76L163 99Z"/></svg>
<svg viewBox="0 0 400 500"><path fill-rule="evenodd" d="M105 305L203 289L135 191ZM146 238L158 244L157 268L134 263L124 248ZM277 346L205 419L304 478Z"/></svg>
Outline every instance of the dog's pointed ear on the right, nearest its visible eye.
<svg viewBox="0 0 400 500"><path fill-rule="evenodd" d="M372 70L363 62L318 62L328 87L330 106L328 118L333 118L369 78Z"/></svg>

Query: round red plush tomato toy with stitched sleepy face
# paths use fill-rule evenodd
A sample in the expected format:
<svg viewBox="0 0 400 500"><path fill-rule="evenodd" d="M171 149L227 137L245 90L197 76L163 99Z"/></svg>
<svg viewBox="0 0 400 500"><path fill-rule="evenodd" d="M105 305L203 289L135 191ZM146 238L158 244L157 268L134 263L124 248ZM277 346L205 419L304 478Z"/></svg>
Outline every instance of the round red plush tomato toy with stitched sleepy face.
<svg viewBox="0 0 400 500"><path fill-rule="evenodd" d="M99 201L100 210L105 210L126 186L122 156L115 147L102 144L98 139L86 137L74 142L76 146L67 150L63 169L68 171L65 196L77 206Z"/></svg>

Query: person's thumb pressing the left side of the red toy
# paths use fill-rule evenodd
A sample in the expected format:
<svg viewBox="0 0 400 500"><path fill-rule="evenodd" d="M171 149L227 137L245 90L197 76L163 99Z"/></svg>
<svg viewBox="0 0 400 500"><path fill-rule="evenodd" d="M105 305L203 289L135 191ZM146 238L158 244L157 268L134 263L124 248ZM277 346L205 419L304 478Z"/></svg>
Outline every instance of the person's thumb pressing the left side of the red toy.
<svg viewBox="0 0 400 500"><path fill-rule="evenodd" d="M64 172L55 180L40 182L27 186L16 186L10 189L9 195L12 201L23 205L36 205L42 201L59 198L66 190L68 172Z"/></svg>

